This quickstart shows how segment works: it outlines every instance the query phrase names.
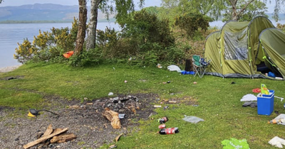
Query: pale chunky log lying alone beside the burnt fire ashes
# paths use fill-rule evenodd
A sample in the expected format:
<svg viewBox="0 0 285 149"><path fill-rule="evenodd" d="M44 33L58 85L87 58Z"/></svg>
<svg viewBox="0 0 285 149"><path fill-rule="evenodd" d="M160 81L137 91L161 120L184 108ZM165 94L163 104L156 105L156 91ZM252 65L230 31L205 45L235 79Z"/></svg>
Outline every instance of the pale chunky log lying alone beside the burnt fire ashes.
<svg viewBox="0 0 285 149"><path fill-rule="evenodd" d="M107 118L109 121L111 121L111 126L115 129L120 129L120 118L119 114L115 111L112 111L108 108L105 108L105 111L103 111L102 115Z"/></svg>

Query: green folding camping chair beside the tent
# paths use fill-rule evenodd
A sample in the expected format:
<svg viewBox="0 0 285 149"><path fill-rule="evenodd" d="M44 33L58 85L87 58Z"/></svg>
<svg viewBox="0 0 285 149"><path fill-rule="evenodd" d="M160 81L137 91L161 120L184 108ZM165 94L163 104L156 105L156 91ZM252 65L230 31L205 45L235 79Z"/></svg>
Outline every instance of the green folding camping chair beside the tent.
<svg viewBox="0 0 285 149"><path fill-rule="evenodd" d="M192 64L193 64L193 70L195 71L194 77L196 75L199 75L199 77L203 77L210 61L211 60L209 60L207 62L206 58L202 58L199 55L193 55L192 56Z"/></svg>

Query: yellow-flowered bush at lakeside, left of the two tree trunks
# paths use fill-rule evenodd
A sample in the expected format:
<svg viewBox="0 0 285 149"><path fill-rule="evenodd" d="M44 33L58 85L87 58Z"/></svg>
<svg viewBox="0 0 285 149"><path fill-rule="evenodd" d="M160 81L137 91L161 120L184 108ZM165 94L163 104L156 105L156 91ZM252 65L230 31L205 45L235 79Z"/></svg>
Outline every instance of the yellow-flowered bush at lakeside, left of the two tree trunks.
<svg viewBox="0 0 285 149"><path fill-rule="evenodd" d="M33 43L25 39L16 48L14 58L21 63L58 60L63 53L75 48L78 21L74 19L72 28L51 28L33 37ZM53 61L54 61L53 60Z"/></svg>

